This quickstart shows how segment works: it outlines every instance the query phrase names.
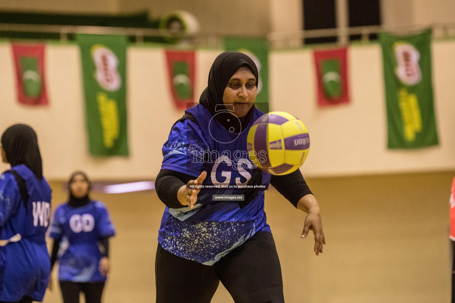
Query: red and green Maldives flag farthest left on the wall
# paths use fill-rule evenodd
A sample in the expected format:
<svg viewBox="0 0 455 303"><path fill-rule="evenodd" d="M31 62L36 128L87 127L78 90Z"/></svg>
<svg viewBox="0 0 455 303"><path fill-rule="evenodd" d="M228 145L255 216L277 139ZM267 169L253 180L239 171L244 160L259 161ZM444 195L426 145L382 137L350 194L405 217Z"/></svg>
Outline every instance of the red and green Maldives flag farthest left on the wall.
<svg viewBox="0 0 455 303"><path fill-rule="evenodd" d="M16 72L19 103L47 105L45 85L45 45L11 44Z"/></svg>

